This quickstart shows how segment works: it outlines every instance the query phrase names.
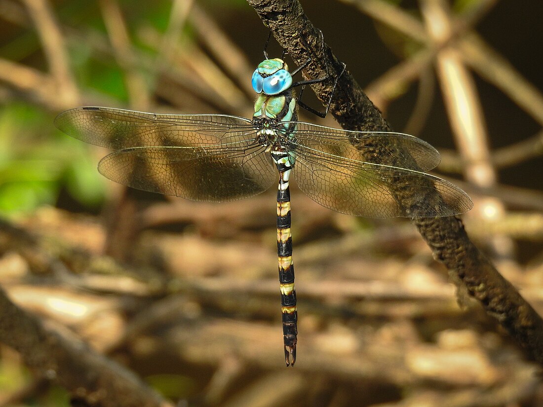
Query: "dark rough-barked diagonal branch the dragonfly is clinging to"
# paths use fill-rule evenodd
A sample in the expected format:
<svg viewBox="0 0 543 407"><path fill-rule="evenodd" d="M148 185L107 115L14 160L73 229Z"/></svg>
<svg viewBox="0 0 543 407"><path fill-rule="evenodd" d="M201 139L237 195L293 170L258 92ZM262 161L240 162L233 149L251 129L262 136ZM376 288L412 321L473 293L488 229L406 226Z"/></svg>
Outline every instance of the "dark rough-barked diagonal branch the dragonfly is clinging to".
<svg viewBox="0 0 543 407"><path fill-rule="evenodd" d="M248 0L275 39L296 63L309 58L305 74L309 78L326 75L328 66L337 77L342 65L326 45L321 49L319 31L305 16L297 0ZM330 97L333 80L315 85L314 91L323 103ZM338 123L349 130L388 131L389 124L368 97L345 71L339 78L330 112ZM379 152L377 151L377 154ZM382 155L382 154L381 154ZM394 165L394 156L378 157L384 164ZM434 188L394 188L395 198L403 206L411 207L421 199L439 205L440 194ZM422 237L431 247L434 257L443 262L453 281L462 282L477 298L487 313L501 323L510 335L543 364L543 320L520 296L512 284L504 279L490 261L473 245L456 217L414 219Z"/></svg>

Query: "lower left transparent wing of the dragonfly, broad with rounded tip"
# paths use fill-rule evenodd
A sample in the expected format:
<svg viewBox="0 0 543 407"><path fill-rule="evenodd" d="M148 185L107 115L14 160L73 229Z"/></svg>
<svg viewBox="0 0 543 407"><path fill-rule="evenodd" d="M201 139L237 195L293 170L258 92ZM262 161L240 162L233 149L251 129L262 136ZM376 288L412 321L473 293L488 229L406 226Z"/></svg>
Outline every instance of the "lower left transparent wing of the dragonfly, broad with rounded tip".
<svg viewBox="0 0 543 407"><path fill-rule="evenodd" d="M267 190L277 175L264 147L136 147L113 152L101 174L132 188L194 201L228 202Z"/></svg>

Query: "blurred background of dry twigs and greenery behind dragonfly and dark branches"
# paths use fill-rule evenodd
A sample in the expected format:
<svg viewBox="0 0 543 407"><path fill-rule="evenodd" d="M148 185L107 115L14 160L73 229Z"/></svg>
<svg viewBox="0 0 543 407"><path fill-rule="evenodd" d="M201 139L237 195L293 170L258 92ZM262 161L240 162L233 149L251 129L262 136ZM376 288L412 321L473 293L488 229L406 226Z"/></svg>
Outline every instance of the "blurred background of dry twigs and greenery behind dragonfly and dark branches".
<svg viewBox="0 0 543 407"><path fill-rule="evenodd" d="M541 313L543 2L302 7L393 129L440 151L436 174L475 202L471 238ZM251 117L269 31L247 2L0 0L0 21L0 284L14 302L180 405L543 404L535 366L408 219L338 214L295 182L285 369L273 188L223 204L128 189L98 174L107 150L54 128L85 105ZM0 346L0 405L68 400Z"/></svg>

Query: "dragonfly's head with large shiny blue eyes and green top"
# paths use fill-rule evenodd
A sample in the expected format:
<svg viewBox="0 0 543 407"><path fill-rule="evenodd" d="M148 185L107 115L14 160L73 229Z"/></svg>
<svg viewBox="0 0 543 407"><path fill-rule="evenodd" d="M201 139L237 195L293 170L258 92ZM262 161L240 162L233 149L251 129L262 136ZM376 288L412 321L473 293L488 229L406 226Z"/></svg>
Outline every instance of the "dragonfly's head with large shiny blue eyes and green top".
<svg viewBox="0 0 543 407"><path fill-rule="evenodd" d="M258 64L252 74L252 88L256 93L267 95L285 92L292 85L292 76L287 64L279 59L266 59Z"/></svg>

